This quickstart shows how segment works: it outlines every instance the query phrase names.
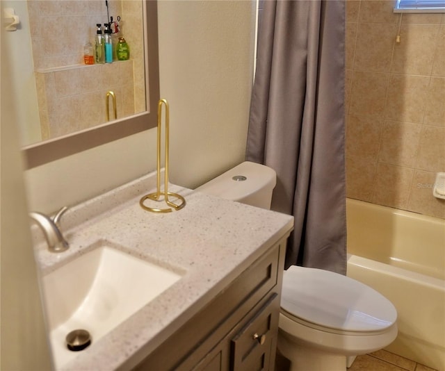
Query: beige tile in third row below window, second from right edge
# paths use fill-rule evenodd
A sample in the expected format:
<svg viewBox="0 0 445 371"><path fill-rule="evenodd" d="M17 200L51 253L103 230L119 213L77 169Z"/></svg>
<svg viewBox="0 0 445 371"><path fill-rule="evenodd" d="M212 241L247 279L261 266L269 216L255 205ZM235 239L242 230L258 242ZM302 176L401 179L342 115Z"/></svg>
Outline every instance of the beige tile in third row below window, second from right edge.
<svg viewBox="0 0 445 371"><path fill-rule="evenodd" d="M403 122L423 122L429 82L428 76L391 75L385 117Z"/></svg>

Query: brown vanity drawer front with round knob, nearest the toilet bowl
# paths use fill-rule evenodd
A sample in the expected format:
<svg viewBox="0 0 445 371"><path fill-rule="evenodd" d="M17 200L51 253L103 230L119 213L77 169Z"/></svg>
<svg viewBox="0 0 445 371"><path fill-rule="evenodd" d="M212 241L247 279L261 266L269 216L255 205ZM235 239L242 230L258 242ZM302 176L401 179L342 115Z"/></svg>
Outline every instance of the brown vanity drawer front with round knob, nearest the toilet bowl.
<svg viewBox="0 0 445 371"><path fill-rule="evenodd" d="M232 338L232 368L241 370L268 370L271 347L275 346L274 338L280 315L279 295L273 292L266 303L254 313L252 318ZM278 309L278 310L277 310Z"/></svg>

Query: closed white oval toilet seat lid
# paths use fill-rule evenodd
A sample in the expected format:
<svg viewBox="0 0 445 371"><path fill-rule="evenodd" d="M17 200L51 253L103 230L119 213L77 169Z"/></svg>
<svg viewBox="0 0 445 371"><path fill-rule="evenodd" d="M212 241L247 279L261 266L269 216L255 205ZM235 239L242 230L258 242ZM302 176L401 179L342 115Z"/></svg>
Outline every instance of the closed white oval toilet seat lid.
<svg viewBox="0 0 445 371"><path fill-rule="evenodd" d="M296 265L284 272L281 306L296 318L339 331L380 331L397 320L394 305L364 283Z"/></svg>

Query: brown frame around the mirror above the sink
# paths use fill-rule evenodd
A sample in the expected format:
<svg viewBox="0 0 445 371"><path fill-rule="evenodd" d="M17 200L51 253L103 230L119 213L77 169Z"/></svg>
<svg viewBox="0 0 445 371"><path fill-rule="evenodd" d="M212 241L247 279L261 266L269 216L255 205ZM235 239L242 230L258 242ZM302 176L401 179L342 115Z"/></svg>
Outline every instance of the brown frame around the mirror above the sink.
<svg viewBox="0 0 445 371"><path fill-rule="evenodd" d="M143 0L143 11L146 21L144 27L144 58L147 110L144 113L101 124L71 135L23 147L22 152L26 160L24 164L26 170L156 126L157 104L160 97L157 1Z"/></svg>

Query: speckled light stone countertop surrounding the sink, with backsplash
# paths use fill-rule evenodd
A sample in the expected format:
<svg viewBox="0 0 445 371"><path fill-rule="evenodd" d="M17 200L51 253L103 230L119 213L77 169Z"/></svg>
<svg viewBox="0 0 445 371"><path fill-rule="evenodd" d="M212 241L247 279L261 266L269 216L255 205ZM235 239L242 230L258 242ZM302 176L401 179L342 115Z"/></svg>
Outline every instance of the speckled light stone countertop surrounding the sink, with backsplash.
<svg viewBox="0 0 445 371"><path fill-rule="evenodd" d="M70 208L62 218L67 252L49 252L42 233L33 228L43 275L105 241L182 276L61 370L138 364L293 228L289 215L170 185L186 206L172 213L144 211L139 199L155 188L152 173Z"/></svg>

